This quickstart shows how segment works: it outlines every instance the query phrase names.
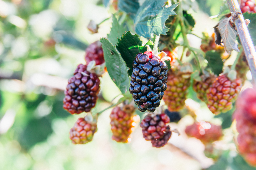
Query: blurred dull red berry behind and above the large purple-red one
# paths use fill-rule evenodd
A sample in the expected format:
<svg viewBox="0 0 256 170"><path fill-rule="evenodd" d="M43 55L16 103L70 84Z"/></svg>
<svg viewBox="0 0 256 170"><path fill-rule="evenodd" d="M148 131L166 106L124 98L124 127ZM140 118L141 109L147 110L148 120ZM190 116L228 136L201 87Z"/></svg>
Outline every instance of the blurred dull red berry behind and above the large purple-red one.
<svg viewBox="0 0 256 170"><path fill-rule="evenodd" d="M99 41L95 41L94 43L91 43L87 49L85 50L85 61L88 64L90 61L95 61L96 65L100 65L105 62L104 55L103 55L103 49L102 44Z"/></svg>

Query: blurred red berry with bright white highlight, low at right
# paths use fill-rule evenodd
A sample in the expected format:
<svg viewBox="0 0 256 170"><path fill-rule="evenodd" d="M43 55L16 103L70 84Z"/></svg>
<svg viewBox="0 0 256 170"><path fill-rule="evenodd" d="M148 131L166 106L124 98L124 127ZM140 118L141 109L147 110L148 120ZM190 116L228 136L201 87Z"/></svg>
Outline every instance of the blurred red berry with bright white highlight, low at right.
<svg viewBox="0 0 256 170"><path fill-rule="evenodd" d="M222 136L221 126L205 121L187 126L185 132L188 136L195 137L204 144L217 141Z"/></svg>

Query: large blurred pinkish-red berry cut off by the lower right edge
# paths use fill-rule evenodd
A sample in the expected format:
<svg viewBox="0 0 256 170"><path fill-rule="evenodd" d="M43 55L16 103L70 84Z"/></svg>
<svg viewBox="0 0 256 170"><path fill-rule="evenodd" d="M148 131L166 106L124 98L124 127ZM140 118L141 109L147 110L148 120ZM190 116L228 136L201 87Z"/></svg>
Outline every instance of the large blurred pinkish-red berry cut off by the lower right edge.
<svg viewBox="0 0 256 170"><path fill-rule="evenodd" d="M239 153L245 160L256 166L256 91L247 88L236 101L236 129Z"/></svg>

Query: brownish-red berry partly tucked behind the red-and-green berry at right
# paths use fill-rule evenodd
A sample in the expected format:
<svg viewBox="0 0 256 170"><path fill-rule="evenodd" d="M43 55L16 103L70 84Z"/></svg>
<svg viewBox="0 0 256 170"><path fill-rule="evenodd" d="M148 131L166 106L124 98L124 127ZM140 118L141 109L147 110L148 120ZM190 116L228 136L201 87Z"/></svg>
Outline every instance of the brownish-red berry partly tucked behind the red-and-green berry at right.
<svg viewBox="0 0 256 170"><path fill-rule="evenodd" d="M199 79L194 79L193 89L197 93L198 99L206 101L206 91L210 88L216 77L214 74L203 74Z"/></svg>

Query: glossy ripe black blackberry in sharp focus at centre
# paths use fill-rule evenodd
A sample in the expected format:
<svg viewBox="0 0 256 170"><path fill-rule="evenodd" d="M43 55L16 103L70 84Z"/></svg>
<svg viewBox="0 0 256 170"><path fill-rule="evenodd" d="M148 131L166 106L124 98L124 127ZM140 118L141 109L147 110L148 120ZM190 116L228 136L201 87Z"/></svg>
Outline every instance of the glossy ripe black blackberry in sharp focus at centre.
<svg viewBox="0 0 256 170"><path fill-rule="evenodd" d="M139 53L133 61L130 93L141 112L154 112L167 88L168 67L153 52Z"/></svg>

